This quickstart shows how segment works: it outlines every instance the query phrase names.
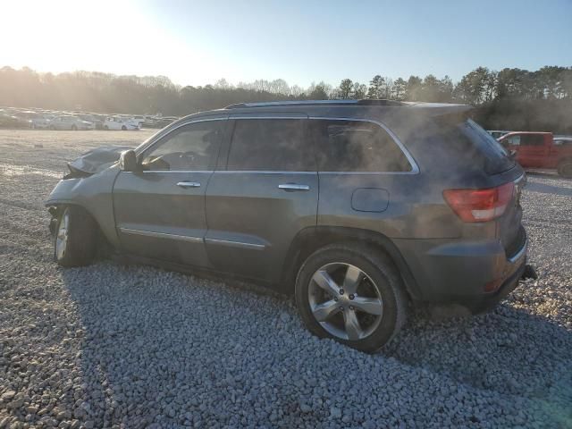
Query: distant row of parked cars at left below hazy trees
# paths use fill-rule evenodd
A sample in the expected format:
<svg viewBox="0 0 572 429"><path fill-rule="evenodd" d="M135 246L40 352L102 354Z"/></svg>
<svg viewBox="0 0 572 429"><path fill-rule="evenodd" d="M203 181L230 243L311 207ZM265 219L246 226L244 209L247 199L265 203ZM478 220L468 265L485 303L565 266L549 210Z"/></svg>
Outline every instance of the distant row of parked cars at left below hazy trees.
<svg viewBox="0 0 572 429"><path fill-rule="evenodd" d="M176 121L174 116L144 116L129 114L88 114L46 109L0 107L0 128L38 130L140 130L164 128Z"/></svg>

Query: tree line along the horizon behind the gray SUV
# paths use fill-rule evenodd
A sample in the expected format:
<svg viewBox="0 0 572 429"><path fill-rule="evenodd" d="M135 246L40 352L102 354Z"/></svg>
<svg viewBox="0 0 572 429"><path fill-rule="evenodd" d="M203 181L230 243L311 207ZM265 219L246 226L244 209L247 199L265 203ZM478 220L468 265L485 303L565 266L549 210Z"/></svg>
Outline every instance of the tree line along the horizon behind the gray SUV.
<svg viewBox="0 0 572 429"><path fill-rule="evenodd" d="M117 114L181 116L240 102L337 98L466 103L485 127L572 133L572 67L537 71L477 67L458 82L429 74L408 79L375 75L363 83L324 81L308 88L285 80L181 87L164 76L116 76L95 71L38 73L27 67L0 69L0 105Z"/></svg>

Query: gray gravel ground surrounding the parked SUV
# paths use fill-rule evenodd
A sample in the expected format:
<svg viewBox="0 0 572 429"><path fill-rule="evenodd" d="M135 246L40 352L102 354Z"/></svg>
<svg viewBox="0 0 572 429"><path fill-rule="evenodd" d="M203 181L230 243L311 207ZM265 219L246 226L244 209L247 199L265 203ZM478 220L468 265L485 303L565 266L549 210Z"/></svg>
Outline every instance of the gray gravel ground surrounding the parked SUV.
<svg viewBox="0 0 572 429"><path fill-rule="evenodd" d="M572 181L529 177L537 281L488 315L416 311L369 356L310 335L290 299L56 266L42 203L64 161L147 135L0 130L0 428L572 427Z"/></svg>

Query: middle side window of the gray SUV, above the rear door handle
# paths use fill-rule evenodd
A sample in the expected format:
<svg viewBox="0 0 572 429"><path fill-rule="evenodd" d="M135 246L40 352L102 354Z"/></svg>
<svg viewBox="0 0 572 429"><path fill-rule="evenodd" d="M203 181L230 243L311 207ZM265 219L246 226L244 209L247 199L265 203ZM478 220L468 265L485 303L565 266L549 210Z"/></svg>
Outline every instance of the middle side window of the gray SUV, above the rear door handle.
<svg viewBox="0 0 572 429"><path fill-rule="evenodd" d="M315 171L311 144L299 119L237 119L229 170Z"/></svg>

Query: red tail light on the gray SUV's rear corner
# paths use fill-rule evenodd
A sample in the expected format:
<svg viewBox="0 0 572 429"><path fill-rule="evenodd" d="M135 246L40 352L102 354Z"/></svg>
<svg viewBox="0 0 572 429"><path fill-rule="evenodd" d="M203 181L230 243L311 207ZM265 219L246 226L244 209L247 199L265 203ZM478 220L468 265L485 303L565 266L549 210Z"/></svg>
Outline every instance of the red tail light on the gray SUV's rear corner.
<svg viewBox="0 0 572 429"><path fill-rule="evenodd" d="M443 197L463 222L488 222L504 214L515 191L513 182L489 189L447 189Z"/></svg>

